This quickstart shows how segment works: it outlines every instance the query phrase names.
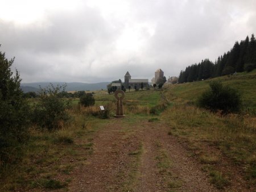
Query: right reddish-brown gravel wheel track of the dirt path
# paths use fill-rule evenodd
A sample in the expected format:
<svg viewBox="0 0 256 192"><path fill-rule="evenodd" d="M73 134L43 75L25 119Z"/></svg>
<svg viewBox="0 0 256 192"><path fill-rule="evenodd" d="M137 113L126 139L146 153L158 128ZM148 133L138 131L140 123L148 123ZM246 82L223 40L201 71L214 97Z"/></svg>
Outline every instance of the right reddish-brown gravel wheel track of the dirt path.
<svg viewBox="0 0 256 192"><path fill-rule="evenodd" d="M143 123L144 128L139 137L142 139L144 153L138 169L140 177L134 191L217 191L210 185L207 174L201 171L201 166L192 157L188 157L187 151L175 137L168 135L167 127ZM156 143L160 147L156 147ZM164 173L156 166L159 150L166 153L171 161L170 167ZM168 183L175 185L179 182L180 186L168 186Z"/></svg>

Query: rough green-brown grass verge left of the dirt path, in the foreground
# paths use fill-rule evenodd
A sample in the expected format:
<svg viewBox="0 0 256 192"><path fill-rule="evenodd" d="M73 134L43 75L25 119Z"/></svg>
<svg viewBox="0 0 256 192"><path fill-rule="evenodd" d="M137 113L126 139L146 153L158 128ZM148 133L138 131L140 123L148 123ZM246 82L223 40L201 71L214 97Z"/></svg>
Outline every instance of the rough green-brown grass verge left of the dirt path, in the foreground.
<svg viewBox="0 0 256 192"><path fill-rule="evenodd" d="M81 124L84 122L86 127L83 128ZM56 176L71 181L70 172L93 153L92 137L104 124L101 119L84 118L81 114L75 116L69 127L61 130L49 132L31 128L30 140L23 148L23 158L18 164L2 169L0 186L3 188L0 189L38 191L65 188L67 183L58 181ZM82 151L81 145L90 149Z"/></svg>

